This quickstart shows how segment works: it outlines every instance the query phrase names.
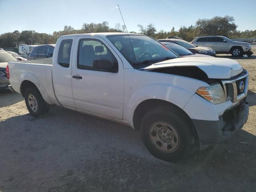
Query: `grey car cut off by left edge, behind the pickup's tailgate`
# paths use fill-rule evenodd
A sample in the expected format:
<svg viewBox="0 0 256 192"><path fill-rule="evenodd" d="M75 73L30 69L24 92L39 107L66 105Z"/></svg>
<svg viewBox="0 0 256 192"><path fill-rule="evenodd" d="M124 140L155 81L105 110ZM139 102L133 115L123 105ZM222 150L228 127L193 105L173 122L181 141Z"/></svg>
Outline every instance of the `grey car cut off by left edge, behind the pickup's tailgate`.
<svg viewBox="0 0 256 192"><path fill-rule="evenodd" d="M8 84L10 84L6 73L6 66L9 61L18 61L18 59L6 51L0 50L0 90L8 88Z"/></svg>

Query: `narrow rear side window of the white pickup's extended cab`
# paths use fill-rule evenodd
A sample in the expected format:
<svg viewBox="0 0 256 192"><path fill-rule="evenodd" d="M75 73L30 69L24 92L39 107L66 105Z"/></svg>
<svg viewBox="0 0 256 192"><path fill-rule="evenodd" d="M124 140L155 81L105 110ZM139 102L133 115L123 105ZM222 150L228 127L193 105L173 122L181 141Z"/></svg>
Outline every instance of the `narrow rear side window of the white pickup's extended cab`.
<svg viewBox="0 0 256 192"><path fill-rule="evenodd" d="M69 67L72 42L72 39L64 39L60 43L58 64L62 67Z"/></svg>

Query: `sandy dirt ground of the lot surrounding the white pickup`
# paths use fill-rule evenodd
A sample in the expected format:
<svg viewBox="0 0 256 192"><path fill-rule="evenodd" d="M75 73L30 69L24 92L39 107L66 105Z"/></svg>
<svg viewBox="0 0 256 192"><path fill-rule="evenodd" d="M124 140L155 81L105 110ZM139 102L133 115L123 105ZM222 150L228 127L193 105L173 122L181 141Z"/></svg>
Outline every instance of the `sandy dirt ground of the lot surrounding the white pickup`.
<svg viewBox="0 0 256 192"><path fill-rule="evenodd" d="M60 107L35 119L1 92L0 192L256 191L256 54L236 60L250 72L247 124L179 164L151 156L127 126Z"/></svg>

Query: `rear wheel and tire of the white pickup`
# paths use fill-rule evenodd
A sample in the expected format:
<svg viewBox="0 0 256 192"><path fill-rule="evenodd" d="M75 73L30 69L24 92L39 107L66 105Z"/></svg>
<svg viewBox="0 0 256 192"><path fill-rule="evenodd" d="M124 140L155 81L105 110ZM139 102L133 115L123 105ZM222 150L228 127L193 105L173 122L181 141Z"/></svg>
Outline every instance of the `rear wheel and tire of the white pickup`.
<svg viewBox="0 0 256 192"><path fill-rule="evenodd" d="M33 117L40 117L49 112L49 107L40 92L35 88L26 89L25 102L28 111Z"/></svg>

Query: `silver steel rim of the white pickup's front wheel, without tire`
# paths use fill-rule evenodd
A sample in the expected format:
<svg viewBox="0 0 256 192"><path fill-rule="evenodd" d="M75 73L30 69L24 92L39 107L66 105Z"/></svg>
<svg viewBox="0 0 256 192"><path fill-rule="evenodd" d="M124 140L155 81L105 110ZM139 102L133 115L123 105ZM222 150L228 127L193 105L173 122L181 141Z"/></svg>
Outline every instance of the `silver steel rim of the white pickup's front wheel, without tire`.
<svg viewBox="0 0 256 192"><path fill-rule="evenodd" d="M156 122L149 131L151 142L158 150L165 153L174 152L180 145L180 138L173 126L166 122Z"/></svg>

